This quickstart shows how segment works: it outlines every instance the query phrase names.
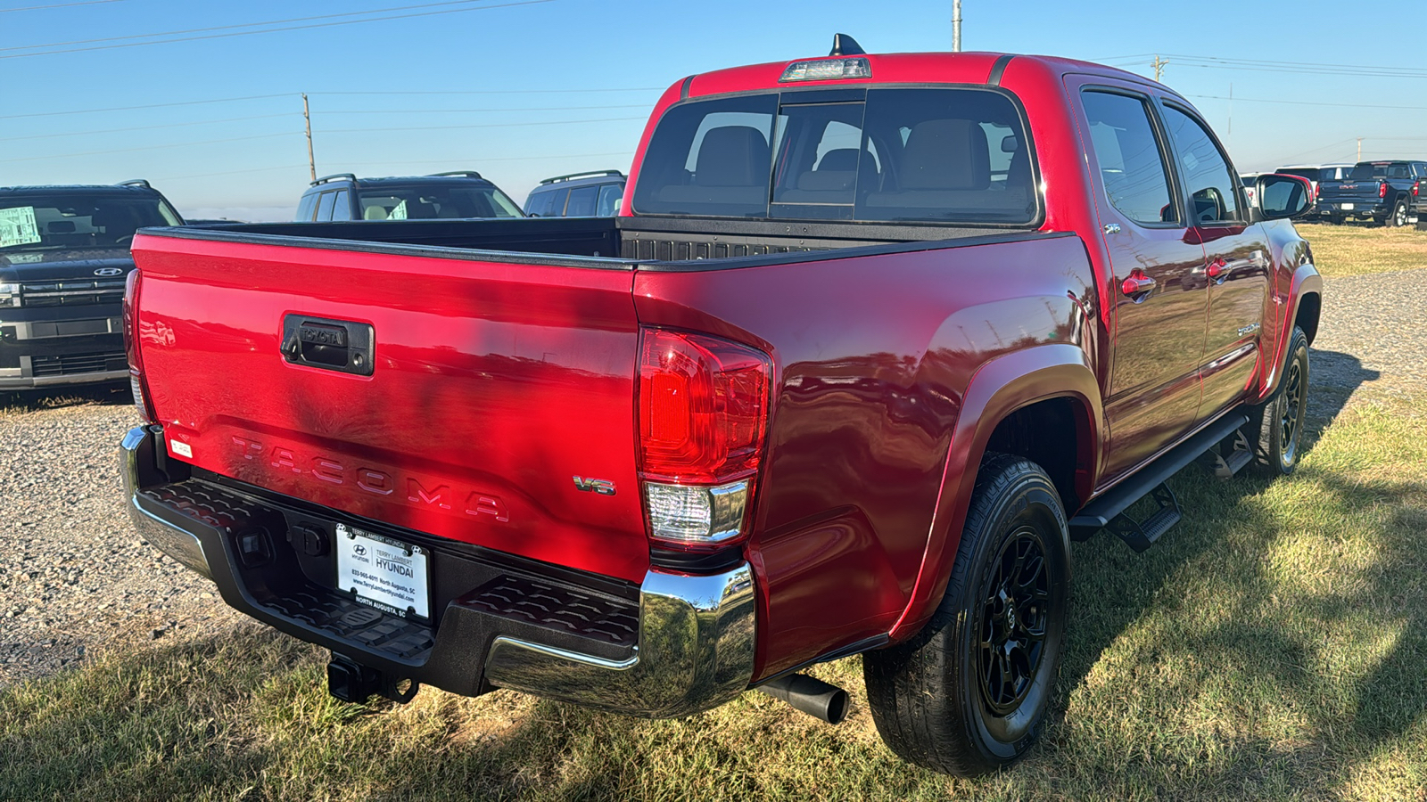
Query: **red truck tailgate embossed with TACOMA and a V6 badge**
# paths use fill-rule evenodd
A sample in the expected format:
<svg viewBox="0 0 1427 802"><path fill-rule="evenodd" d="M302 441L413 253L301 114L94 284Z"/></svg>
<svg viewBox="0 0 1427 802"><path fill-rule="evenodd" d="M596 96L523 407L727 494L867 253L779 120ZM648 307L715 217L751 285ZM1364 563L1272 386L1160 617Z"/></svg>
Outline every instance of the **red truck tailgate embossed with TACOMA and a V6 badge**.
<svg viewBox="0 0 1427 802"><path fill-rule="evenodd" d="M632 270L432 254L137 237L140 358L170 455L639 581ZM307 318L370 325L371 375L285 360L284 323Z"/></svg>

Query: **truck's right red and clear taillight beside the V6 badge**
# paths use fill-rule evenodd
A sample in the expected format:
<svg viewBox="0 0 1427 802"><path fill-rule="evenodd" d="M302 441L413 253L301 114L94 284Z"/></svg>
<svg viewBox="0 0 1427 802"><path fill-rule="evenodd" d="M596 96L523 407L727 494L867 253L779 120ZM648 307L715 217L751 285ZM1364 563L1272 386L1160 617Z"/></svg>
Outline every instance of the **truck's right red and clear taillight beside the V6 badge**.
<svg viewBox="0 0 1427 802"><path fill-rule="evenodd" d="M748 537L771 384L762 351L641 331L639 478L652 541L708 548Z"/></svg>

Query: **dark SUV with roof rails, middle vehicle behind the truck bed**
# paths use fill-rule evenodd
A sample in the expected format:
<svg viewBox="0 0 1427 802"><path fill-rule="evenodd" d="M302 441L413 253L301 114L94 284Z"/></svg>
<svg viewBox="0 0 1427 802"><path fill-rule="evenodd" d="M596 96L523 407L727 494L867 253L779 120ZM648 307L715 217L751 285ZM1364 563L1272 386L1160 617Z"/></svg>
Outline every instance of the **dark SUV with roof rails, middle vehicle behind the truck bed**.
<svg viewBox="0 0 1427 802"><path fill-rule="evenodd" d="M525 217L521 207L474 170L358 178L351 173L313 181L297 204L297 223L332 220L458 220Z"/></svg>

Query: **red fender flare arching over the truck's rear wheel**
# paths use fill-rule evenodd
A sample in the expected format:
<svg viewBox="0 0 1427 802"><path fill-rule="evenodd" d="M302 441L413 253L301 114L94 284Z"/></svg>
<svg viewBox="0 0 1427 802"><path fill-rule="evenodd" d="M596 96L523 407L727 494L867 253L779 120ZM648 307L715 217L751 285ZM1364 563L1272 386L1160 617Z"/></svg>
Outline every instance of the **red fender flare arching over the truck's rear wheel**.
<svg viewBox="0 0 1427 802"><path fill-rule="evenodd" d="M1100 385L1085 351L1077 345L1055 342L1003 354L983 364L972 375L963 395L922 567L912 598L889 634L893 641L915 635L936 612L946 592L968 505L976 487L976 471L992 432L1016 410L1050 398L1076 401L1085 417L1082 422L1087 437L1077 440L1089 469L1076 472L1076 492L1080 498L1089 497L1090 485L1100 472L1103 441L1109 432L1104 427ZM1089 454L1083 454L1083 450L1089 450ZM1066 512L1075 514L1073 509ZM1069 549L1069 544L1066 547Z"/></svg>

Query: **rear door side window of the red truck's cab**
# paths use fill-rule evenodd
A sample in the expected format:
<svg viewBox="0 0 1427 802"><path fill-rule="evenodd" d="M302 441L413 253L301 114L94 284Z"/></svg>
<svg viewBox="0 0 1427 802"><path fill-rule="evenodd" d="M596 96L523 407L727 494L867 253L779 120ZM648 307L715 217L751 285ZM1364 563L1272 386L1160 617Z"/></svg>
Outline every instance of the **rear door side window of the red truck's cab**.
<svg viewBox="0 0 1427 802"><path fill-rule="evenodd" d="M1110 205L1134 223L1176 223L1169 168L1144 100L1109 91L1080 97Z"/></svg>

